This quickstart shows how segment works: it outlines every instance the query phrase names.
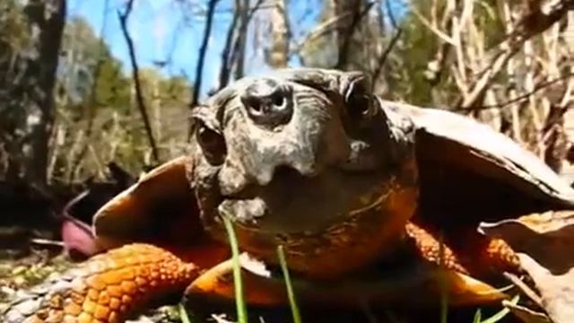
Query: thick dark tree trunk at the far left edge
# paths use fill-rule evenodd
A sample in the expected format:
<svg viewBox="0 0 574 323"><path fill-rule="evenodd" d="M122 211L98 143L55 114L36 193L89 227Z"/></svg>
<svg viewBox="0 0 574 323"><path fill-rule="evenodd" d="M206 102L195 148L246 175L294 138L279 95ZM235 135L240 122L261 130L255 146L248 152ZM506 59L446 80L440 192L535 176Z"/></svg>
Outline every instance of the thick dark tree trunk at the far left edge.
<svg viewBox="0 0 574 323"><path fill-rule="evenodd" d="M13 50L0 62L0 137L7 153L6 179L43 188L65 0L29 0L22 10L24 45L2 44Z"/></svg>

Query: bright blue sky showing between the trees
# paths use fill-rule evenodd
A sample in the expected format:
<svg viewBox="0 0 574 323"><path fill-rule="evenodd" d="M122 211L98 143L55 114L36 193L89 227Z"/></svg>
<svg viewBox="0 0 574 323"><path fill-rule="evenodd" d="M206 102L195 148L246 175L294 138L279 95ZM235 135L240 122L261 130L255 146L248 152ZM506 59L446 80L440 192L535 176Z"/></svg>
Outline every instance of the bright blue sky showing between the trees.
<svg viewBox="0 0 574 323"><path fill-rule="evenodd" d="M128 30L135 43L135 54L140 66L154 62L169 62L161 68L167 75L195 78L198 48L205 24L205 4L198 0L135 0L128 21ZM253 1L252 1L253 2ZM82 16L108 44L112 55L122 61L130 71L129 56L119 21L118 10L123 10L126 0L68 0L68 17ZM204 65L201 95L217 85L221 66L221 53L232 17L234 0L220 0L215 9L212 37L209 41ZM291 0L290 26L295 37L309 30L317 21L320 0ZM190 14L191 13L191 14ZM263 63L261 51L248 46L246 73L259 74L268 67ZM259 47L260 48L260 47ZM293 59L291 66L299 65Z"/></svg>

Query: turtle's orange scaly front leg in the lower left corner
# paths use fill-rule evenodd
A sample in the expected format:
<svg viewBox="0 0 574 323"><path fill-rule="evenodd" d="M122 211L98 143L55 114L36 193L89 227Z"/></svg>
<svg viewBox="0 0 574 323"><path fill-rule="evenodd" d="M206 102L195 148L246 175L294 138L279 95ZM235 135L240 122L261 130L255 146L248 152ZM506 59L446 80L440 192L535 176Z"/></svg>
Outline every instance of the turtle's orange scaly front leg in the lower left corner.
<svg viewBox="0 0 574 323"><path fill-rule="evenodd" d="M174 254L135 243L92 257L32 288L4 310L5 323L119 323L183 292L199 269Z"/></svg>

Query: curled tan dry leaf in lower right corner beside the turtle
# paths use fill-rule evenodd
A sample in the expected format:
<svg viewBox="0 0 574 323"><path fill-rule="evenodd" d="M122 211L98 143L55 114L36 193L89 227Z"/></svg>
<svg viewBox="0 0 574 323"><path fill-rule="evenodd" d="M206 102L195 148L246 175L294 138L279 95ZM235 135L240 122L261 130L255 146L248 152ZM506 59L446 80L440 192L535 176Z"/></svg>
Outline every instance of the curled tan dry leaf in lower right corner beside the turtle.
<svg viewBox="0 0 574 323"><path fill-rule="evenodd" d="M506 240L517 251L552 322L574 322L574 211L481 223L479 231Z"/></svg>

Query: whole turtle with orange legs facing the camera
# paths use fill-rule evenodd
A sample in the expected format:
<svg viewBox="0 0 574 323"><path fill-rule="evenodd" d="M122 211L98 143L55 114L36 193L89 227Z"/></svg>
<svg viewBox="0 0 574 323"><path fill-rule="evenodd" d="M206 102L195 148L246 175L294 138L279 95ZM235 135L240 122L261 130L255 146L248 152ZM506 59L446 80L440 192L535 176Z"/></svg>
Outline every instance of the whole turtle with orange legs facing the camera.
<svg viewBox="0 0 574 323"><path fill-rule="evenodd" d="M97 254L25 291L3 321L122 322L168 294L232 301L225 219L254 306L287 302L279 247L300 301L507 298L496 284L522 273L516 252L477 225L571 209L574 189L488 125L371 89L360 71L300 67L213 93L191 112L187 153L94 215Z"/></svg>

